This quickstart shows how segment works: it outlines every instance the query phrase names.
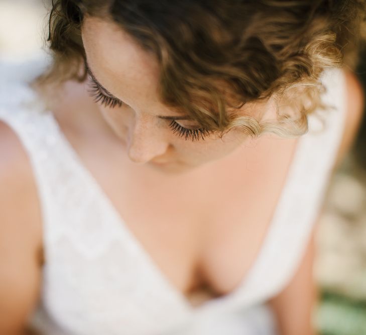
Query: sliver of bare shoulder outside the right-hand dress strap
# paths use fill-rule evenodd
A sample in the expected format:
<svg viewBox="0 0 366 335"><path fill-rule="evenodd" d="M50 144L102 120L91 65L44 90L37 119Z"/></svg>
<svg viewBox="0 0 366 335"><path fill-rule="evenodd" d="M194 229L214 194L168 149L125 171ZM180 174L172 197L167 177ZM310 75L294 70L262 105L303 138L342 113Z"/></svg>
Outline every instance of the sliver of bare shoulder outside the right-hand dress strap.
<svg viewBox="0 0 366 335"><path fill-rule="evenodd" d="M338 165L353 144L360 126L364 111L363 88L357 76L350 70L344 69L345 94L346 94L346 118L344 132L336 158Z"/></svg>

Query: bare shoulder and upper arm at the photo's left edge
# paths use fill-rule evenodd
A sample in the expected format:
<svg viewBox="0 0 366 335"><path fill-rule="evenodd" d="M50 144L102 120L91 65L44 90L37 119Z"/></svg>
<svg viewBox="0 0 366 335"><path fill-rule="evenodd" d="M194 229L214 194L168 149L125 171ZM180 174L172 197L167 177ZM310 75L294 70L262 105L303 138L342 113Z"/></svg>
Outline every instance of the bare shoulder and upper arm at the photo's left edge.
<svg viewBox="0 0 366 335"><path fill-rule="evenodd" d="M42 228L31 164L14 131L0 122L0 333L20 333L36 306Z"/></svg>

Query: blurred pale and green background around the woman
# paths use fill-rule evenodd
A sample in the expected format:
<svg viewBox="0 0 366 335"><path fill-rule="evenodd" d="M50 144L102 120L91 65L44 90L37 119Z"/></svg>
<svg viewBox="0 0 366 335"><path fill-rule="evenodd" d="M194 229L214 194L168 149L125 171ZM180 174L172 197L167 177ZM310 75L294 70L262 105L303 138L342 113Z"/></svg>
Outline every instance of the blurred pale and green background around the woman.
<svg viewBox="0 0 366 335"><path fill-rule="evenodd" d="M42 0L0 0L0 61L42 54ZM366 53L357 75L366 87ZM1 74L0 74L1 75ZM333 176L317 234L315 276L321 289L316 322L323 335L366 334L366 120Z"/></svg>

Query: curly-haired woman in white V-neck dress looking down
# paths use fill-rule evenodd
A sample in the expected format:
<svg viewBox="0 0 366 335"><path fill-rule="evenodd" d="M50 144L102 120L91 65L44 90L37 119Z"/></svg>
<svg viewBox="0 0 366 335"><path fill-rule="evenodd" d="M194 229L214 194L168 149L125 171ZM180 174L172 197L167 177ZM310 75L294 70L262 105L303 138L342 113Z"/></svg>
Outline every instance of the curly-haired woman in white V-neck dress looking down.
<svg viewBox="0 0 366 335"><path fill-rule="evenodd" d="M364 9L53 1L50 68L2 87L0 333L35 310L49 334L315 333Z"/></svg>

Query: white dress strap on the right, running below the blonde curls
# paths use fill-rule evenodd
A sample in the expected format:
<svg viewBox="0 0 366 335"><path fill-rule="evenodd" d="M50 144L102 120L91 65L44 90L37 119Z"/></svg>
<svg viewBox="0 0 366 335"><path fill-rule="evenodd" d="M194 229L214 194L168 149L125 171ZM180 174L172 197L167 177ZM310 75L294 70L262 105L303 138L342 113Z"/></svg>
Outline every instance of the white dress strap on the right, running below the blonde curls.
<svg viewBox="0 0 366 335"><path fill-rule="evenodd" d="M344 72L329 69L321 79L326 89L322 101L328 108L308 118L309 131L300 139L268 239L248 280L247 288L258 294L259 300L280 292L293 277L318 220L334 168L346 117Z"/></svg>

